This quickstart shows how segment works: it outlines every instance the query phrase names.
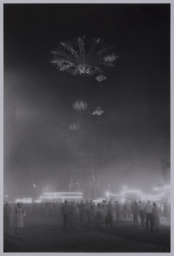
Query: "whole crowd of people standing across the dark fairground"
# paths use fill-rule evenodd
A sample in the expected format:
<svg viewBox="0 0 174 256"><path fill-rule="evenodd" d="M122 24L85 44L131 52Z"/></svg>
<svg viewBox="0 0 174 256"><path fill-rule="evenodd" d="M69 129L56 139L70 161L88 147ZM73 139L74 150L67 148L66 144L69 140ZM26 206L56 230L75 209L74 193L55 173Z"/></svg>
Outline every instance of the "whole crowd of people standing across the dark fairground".
<svg viewBox="0 0 174 256"><path fill-rule="evenodd" d="M153 232L159 231L160 218L170 219L170 205L167 203L155 203L151 201L141 202L132 201L129 203L121 203L119 201L105 201L94 203L92 200L81 202L65 201L45 202L45 203L27 203L25 207L21 203L4 204L4 233L9 233L9 224L11 221L11 213L15 214L14 224L15 233L19 234L19 230L23 227L23 217L27 214L39 214L46 219L55 217L62 219L64 229L75 229L77 227L111 227L113 224L119 223L121 219L133 221L135 227L138 223L145 227L145 230ZM140 221L139 221L140 219Z"/></svg>

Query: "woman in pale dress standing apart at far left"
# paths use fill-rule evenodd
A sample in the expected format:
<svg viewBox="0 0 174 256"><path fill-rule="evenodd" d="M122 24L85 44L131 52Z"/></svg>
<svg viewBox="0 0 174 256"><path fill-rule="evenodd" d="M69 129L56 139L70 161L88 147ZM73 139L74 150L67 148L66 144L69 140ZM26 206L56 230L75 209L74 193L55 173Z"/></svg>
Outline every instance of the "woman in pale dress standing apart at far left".
<svg viewBox="0 0 174 256"><path fill-rule="evenodd" d="M15 233L18 235L19 230L23 227L23 217L26 215L21 203L15 207Z"/></svg>

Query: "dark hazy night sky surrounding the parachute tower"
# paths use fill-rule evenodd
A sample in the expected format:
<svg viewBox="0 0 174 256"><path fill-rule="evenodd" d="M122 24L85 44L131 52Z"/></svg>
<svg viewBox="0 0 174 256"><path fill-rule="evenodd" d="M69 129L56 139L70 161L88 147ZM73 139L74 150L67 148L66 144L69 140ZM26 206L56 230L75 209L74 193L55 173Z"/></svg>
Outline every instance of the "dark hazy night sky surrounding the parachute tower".
<svg viewBox="0 0 174 256"><path fill-rule="evenodd" d="M115 45L107 80L75 77L50 63L60 41L83 36ZM79 85L91 113L97 182L151 193L170 161L169 4L4 5L4 191L31 197L32 184L67 189L75 154ZM89 87L87 87L89 85Z"/></svg>

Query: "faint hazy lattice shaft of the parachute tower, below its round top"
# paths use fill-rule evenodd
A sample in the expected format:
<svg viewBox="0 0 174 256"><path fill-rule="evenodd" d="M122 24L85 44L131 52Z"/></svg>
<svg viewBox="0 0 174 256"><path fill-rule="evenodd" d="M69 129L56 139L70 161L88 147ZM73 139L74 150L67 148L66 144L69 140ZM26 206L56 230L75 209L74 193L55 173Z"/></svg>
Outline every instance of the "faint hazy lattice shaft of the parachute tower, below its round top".
<svg viewBox="0 0 174 256"><path fill-rule="evenodd" d="M77 113L75 148L69 189L83 192L85 199L95 197L96 145L93 120L88 110Z"/></svg>

